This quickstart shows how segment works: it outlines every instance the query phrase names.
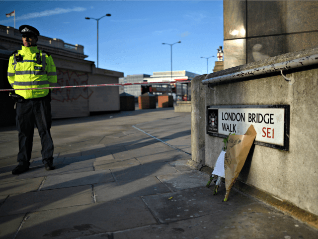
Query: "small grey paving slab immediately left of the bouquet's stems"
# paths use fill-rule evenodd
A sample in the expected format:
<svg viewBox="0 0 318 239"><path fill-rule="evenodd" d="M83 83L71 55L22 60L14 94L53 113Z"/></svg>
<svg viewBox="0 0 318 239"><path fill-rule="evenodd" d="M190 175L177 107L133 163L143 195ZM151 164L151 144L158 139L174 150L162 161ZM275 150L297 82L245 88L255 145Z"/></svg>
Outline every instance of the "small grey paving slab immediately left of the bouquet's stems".
<svg viewBox="0 0 318 239"><path fill-rule="evenodd" d="M164 174L158 176L159 180L172 191L205 186L210 176L198 170Z"/></svg>

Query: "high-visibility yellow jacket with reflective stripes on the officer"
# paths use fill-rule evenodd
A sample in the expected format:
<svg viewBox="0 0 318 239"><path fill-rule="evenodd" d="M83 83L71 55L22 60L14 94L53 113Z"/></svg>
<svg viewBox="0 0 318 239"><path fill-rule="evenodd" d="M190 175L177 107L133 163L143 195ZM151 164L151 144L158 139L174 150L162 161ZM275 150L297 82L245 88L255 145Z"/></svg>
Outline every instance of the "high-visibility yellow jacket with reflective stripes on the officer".
<svg viewBox="0 0 318 239"><path fill-rule="evenodd" d="M36 53L40 54L40 64L37 63ZM20 54L22 61L15 55ZM37 46L25 47L13 52L9 59L8 81L13 89L28 89L52 87L57 83L56 68L48 53L38 50ZM24 99L44 97L49 94L50 89L41 90L19 90L15 91Z"/></svg>

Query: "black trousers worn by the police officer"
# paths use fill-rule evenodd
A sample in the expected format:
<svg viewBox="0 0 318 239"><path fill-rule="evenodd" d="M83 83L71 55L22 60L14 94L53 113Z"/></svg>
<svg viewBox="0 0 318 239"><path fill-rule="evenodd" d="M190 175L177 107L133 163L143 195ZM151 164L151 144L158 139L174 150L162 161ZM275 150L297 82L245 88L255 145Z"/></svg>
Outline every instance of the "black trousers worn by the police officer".
<svg viewBox="0 0 318 239"><path fill-rule="evenodd" d="M33 146L34 124L39 130L42 144L42 162L53 161L53 140L51 137L51 99L26 100L17 103L16 126L19 132L19 152L17 161L19 165L29 166Z"/></svg>

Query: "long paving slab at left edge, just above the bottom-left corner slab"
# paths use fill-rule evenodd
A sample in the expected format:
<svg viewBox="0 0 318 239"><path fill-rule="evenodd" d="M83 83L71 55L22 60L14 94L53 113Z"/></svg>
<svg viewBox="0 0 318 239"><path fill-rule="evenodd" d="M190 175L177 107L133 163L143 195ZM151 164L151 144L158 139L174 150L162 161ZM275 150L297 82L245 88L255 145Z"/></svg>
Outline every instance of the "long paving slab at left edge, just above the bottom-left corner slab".
<svg viewBox="0 0 318 239"><path fill-rule="evenodd" d="M10 195L0 216L37 212L94 203L90 185Z"/></svg>

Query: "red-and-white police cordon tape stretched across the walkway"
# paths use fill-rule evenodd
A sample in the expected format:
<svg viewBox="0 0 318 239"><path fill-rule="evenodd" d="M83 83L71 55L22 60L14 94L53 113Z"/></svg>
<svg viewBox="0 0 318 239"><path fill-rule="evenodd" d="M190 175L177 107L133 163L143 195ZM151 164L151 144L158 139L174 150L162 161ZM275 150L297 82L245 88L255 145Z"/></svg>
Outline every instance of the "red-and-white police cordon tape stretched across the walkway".
<svg viewBox="0 0 318 239"><path fill-rule="evenodd" d="M117 83L117 84L83 85L83 86L54 86L54 87L27 88L27 89L5 89L5 90L0 90L0 91L62 89L62 88L78 88L78 87L98 87L98 86L134 86L134 85L174 84L174 83L189 83L189 82L191 82L191 81L136 82L136 83Z"/></svg>

